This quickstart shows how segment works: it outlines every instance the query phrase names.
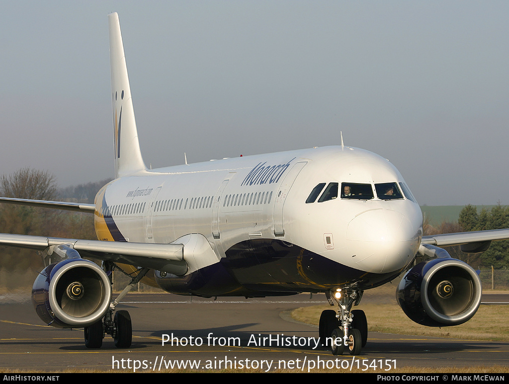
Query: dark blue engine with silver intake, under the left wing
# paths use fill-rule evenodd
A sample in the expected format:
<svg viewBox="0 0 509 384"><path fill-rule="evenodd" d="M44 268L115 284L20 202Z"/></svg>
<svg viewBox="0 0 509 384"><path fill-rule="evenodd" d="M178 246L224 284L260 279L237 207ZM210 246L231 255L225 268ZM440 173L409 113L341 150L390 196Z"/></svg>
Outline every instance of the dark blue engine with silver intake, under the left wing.
<svg viewBox="0 0 509 384"><path fill-rule="evenodd" d="M69 259L47 266L37 277L32 302L39 317L58 328L99 321L111 302L111 283L97 264Z"/></svg>

